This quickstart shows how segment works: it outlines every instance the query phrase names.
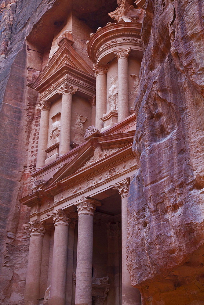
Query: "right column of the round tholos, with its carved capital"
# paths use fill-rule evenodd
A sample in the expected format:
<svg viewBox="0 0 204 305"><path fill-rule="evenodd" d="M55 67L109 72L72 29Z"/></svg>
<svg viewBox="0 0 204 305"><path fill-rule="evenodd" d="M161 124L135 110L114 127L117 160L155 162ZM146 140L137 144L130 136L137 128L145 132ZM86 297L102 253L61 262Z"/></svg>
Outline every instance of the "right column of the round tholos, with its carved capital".
<svg viewBox="0 0 204 305"><path fill-rule="evenodd" d="M113 50L118 60L118 122L129 116L128 56L131 48Z"/></svg>

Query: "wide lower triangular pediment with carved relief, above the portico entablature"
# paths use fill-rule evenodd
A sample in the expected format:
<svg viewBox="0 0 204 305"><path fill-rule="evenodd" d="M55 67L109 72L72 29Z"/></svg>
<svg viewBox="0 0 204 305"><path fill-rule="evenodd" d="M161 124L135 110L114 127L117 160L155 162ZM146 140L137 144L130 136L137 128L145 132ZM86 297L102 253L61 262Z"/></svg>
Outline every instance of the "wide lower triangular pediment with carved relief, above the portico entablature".
<svg viewBox="0 0 204 305"><path fill-rule="evenodd" d="M78 154L70 162L64 164L42 188L52 188L52 185L57 185L72 174L77 174L86 167L88 169L98 161L119 152L120 149L127 145L132 145L134 134L135 131L133 130L126 133L104 135L90 139L82 146Z"/></svg>

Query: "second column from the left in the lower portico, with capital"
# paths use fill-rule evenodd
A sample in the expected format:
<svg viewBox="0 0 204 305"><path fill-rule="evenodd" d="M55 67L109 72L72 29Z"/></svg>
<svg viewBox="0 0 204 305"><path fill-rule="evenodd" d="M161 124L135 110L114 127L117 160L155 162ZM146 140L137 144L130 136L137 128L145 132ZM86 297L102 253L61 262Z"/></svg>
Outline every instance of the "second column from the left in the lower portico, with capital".
<svg viewBox="0 0 204 305"><path fill-rule="evenodd" d="M64 305L67 276L69 214L59 209L51 215L55 226L49 305Z"/></svg>

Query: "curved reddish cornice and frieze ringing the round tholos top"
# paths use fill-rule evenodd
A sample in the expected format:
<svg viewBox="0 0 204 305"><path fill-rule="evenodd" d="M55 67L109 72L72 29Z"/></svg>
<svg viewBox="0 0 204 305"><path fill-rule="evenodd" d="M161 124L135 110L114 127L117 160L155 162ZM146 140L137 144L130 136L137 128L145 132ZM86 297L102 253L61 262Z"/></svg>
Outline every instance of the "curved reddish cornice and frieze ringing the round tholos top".
<svg viewBox="0 0 204 305"><path fill-rule="evenodd" d="M96 63L96 57L105 48L105 45L110 42L111 46L120 46L121 43L134 43L142 47L141 44L141 23L133 19L131 22L119 21L118 23L107 23L103 28L98 28L95 34L90 34L90 40L87 41L87 52L93 63ZM121 41L118 39L121 38ZM123 41L122 39L130 39ZM135 40L134 40L135 38Z"/></svg>

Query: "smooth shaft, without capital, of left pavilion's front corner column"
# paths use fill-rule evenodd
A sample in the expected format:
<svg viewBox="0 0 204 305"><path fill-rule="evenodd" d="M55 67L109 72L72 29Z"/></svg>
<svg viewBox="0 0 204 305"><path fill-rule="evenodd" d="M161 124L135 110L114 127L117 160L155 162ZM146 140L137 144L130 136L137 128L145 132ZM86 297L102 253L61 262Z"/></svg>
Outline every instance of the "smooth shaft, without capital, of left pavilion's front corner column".
<svg viewBox="0 0 204 305"><path fill-rule="evenodd" d="M71 136L71 93L64 92L62 95L61 110L61 130L60 130L60 148L59 153L67 153L70 151Z"/></svg>

